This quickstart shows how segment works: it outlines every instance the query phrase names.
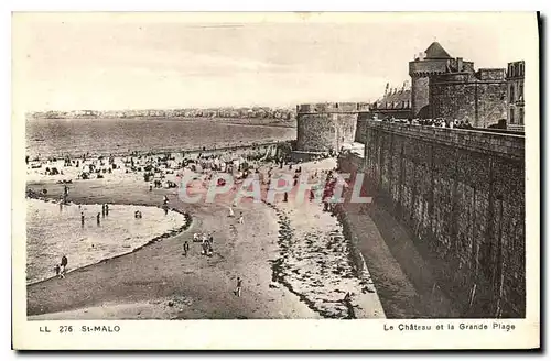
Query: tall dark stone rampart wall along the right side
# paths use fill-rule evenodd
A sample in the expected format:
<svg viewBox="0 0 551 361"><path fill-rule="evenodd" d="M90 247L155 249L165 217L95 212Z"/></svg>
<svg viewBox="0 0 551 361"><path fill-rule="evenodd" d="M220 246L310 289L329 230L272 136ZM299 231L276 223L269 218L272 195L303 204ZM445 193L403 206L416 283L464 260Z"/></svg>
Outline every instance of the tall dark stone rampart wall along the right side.
<svg viewBox="0 0 551 361"><path fill-rule="evenodd" d="M360 121L364 172L464 317L525 317L525 139Z"/></svg>

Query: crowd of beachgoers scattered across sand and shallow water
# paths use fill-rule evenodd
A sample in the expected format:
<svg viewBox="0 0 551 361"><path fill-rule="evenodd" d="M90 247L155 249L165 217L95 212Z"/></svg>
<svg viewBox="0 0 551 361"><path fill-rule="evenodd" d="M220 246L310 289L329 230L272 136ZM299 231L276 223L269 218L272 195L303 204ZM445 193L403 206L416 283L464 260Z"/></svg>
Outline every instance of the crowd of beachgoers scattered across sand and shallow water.
<svg viewBox="0 0 551 361"><path fill-rule="evenodd" d="M206 153L206 152L205 152ZM318 154L314 162L321 161L325 157L335 156L335 153ZM51 157L47 160L40 160L40 157L30 161L26 158L26 163L30 162L41 163L42 165L53 162L58 162L60 160ZM63 196L58 200L60 208L69 201L69 189L73 180L88 180L95 178L104 178L108 180L109 175L114 173L120 173L123 175L137 175L138 179L141 178L143 183L147 184L147 189L153 192L158 188L171 189L179 188L177 183L185 172L193 172L196 174L197 179L203 186L207 186L209 182L216 177L217 173L226 173L234 176L237 182L247 178L251 174L256 174L262 179L261 184L268 186L268 182L277 173L291 173L293 174L294 184L298 186L299 176L302 174L302 166L294 164L289 158L278 155L278 154L267 154L267 153L252 153L242 154L238 152L224 152L224 153L206 153L203 154L186 154L182 152L180 154L166 153L166 154L134 154L131 153L128 156L115 157L109 155L107 157L90 157L89 154L84 154L77 158L72 158L65 156L62 158L63 167L57 169L54 166L46 166L44 172L45 175L63 174L64 169L73 168L73 174L76 174L76 178L63 179L58 182L63 184ZM294 167L293 167L294 166ZM65 172L67 174L67 172ZM322 194L323 207L325 211L331 211L332 205L328 198L332 196L332 189L335 187L337 178L334 175L334 171L315 171L310 175L310 179L325 179L325 186L317 190L310 190L310 199L313 200L317 198L316 192ZM219 184L223 185L223 184ZM31 190L32 193L32 190ZM42 195L29 194L28 196L45 196L46 189L43 189ZM164 209L165 215L169 211L169 194L164 194L162 198L161 208ZM290 201L289 193L284 193L283 201ZM245 225L245 216L242 211L236 214L234 208L237 205L230 204L228 216L236 219L237 225ZM80 207L79 207L80 208ZM109 216L109 205L101 205L101 211L95 215L96 223L98 227L101 226L102 219ZM141 211L134 211L134 218L141 219L143 216ZM80 212L80 226L85 226L86 215L84 211ZM214 234L210 233L194 233L191 240L183 241L183 255L188 256L191 254L191 243L201 244L201 255L213 256L214 254ZM67 258L63 255L60 264L55 265L56 275L61 278L65 277L67 270ZM241 295L244 280L238 277L236 281L236 288L234 294L236 296Z"/></svg>

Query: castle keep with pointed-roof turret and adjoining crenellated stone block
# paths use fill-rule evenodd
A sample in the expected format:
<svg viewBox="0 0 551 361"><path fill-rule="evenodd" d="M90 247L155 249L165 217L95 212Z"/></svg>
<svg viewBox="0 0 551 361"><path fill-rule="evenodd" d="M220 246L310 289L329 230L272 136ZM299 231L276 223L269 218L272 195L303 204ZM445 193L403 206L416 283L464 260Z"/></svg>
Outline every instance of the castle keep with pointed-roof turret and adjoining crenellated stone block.
<svg viewBox="0 0 551 361"><path fill-rule="evenodd" d="M434 42L409 63L409 74L412 118L466 120L479 128L501 127L508 118L503 68L475 70L473 62L452 57Z"/></svg>

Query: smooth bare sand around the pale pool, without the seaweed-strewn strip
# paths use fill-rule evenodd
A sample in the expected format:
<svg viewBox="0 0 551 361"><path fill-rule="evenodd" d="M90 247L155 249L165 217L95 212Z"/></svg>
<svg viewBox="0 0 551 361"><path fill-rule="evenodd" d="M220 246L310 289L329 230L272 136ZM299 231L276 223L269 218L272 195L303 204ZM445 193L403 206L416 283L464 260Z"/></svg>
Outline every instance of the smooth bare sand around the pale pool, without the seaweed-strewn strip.
<svg viewBox="0 0 551 361"><path fill-rule="evenodd" d="M172 193L117 184L90 187L94 182L73 184L69 200L158 205L164 194ZM35 187L46 188L51 197L63 192L63 186L55 184ZM171 208L191 215L188 230L137 252L75 270L63 280L29 285L30 319L320 317L284 287L270 287L268 260L278 252L278 223L272 209L263 204L237 208L247 219L244 227L228 217L224 205L184 205L174 194L169 197ZM214 255L201 255L199 245L191 243L191 252L184 256L184 239L191 240L201 231L214 232ZM245 278L241 297L234 295L237 276Z"/></svg>

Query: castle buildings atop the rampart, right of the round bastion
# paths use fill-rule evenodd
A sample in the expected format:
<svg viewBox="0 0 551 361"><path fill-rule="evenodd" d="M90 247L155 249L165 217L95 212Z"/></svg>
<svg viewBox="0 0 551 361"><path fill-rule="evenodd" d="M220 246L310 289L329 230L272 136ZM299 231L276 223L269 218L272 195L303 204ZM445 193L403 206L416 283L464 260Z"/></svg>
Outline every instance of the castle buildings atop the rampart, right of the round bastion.
<svg viewBox="0 0 551 361"><path fill-rule="evenodd" d="M507 70L475 70L473 62L452 57L434 42L409 62L409 75L411 89L388 91L387 84L385 95L360 119L444 118L475 128L507 123L523 130L523 62L509 63Z"/></svg>

